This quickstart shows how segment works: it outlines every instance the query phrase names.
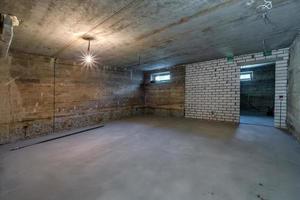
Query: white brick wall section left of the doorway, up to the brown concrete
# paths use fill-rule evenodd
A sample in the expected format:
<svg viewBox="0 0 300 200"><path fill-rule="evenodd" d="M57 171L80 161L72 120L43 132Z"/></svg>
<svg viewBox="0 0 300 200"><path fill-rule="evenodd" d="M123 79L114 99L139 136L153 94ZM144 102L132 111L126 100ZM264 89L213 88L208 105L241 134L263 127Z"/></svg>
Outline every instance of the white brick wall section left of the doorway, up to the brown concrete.
<svg viewBox="0 0 300 200"><path fill-rule="evenodd" d="M239 122L240 69L219 59L186 66L185 116Z"/></svg>

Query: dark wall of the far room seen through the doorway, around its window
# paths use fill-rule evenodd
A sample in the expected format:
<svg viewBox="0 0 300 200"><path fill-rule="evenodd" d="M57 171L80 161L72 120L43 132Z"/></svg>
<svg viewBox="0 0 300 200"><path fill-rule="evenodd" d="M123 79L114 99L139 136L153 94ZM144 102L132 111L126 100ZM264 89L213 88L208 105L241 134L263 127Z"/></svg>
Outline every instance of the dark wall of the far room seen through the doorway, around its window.
<svg viewBox="0 0 300 200"><path fill-rule="evenodd" d="M241 114L274 115L275 65L241 69L252 72L251 81L241 81Z"/></svg>

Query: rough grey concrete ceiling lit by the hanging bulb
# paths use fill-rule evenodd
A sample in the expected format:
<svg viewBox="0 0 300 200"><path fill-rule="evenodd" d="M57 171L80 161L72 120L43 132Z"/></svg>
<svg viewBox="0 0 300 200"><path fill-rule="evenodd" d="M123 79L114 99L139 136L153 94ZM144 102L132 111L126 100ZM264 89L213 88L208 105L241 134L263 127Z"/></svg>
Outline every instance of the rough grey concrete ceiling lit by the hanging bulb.
<svg viewBox="0 0 300 200"><path fill-rule="evenodd" d="M287 47L300 28L300 1L273 0L1 0L0 12L22 20L13 51L75 59L80 37L96 37L101 65L153 69ZM140 61L139 61L140 57ZM140 63L140 64L139 64Z"/></svg>

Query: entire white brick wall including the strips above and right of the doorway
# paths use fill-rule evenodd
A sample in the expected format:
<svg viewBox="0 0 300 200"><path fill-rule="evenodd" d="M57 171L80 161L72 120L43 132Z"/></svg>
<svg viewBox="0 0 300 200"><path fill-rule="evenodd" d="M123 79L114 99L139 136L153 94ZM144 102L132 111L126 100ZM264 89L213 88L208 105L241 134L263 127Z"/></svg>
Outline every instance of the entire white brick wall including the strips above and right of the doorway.
<svg viewBox="0 0 300 200"><path fill-rule="evenodd" d="M240 66L258 63L276 63L275 126L286 128L287 67L289 48L263 53L246 54L226 59L186 65L185 116L187 118L239 122ZM279 96L283 96L281 104Z"/></svg>

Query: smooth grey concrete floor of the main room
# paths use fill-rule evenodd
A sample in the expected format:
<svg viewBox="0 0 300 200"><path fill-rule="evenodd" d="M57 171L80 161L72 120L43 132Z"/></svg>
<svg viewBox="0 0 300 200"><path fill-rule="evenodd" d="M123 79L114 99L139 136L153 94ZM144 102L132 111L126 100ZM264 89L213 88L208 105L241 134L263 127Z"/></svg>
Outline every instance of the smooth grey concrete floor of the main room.
<svg viewBox="0 0 300 200"><path fill-rule="evenodd" d="M300 145L266 126L136 117L0 148L0 199L299 200Z"/></svg>

